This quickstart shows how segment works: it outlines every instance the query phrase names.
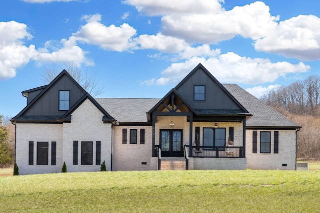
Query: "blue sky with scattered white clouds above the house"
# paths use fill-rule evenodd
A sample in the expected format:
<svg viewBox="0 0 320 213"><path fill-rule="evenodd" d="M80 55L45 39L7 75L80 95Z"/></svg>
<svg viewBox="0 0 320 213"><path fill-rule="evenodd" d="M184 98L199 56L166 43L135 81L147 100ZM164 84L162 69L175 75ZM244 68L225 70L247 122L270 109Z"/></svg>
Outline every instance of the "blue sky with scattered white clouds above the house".
<svg viewBox="0 0 320 213"><path fill-rule="evenodd" d="M318 0L1 0L0 114L45 68L99 78L97 97L162 98L198 63L259 97L319 73Z"/></svg>

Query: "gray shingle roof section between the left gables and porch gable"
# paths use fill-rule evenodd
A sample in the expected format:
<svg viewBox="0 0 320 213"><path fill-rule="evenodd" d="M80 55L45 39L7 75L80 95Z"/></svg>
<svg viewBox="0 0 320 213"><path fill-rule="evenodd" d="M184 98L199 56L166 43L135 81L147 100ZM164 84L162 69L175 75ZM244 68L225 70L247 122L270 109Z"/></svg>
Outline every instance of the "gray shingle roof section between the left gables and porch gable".
<svg viewBox="0 0 320 213"><path fill-rule="evenodd" d="M95 98L118 122L147 122L146 113L161 99Z"/></svg>

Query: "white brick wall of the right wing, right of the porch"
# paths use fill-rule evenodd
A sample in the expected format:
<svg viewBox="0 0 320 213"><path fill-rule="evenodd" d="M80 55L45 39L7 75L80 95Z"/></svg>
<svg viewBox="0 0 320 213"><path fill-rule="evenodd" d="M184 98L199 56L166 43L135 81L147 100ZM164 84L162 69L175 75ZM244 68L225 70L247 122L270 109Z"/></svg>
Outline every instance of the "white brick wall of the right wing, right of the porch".
<svg viewBox="0 0 320 213"><path fill-rule="evenodd" d="M245 131L245 157L247 159L248 169L263 170L295 170L295 131L278 130L279 145L278 153L273 153L274 149L274 131L257 130L257 153L252 153L252 131ZM271 153L260 153L260 131L271 132ZM284 167L282 164L286 164Z"/></svg>

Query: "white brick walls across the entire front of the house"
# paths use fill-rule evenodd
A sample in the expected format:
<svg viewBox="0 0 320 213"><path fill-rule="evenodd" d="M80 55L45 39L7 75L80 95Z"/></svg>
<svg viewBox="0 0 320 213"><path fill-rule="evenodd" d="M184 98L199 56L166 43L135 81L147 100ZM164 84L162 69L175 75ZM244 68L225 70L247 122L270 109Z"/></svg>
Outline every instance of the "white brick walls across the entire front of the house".
<svg viewBox="0 0 320 213"><path fill-rule="evenodd" d="M173 129L182 129L182 144L189 145L189 123L186 117L158 116L155 124L155 145L159 144L159 130L169 129L170 121L175 123ZM242 123L218 122L226 130L233 127L234 146L242 146ZM192 142L195 127L200 127L200 142L203 139L203 127L213 127L213 122L193 122ZM122 144L122 129L127 129L127 143ZM130 129L137 130L137 144L130 144ZM144 129L144 144L140 144L140 129ZM16 163L21 175L37 173L59 173L63 161L67 172L99 171L95 165L96 141L101 142L101 163L105 161L111 170L111 135L113 131L112 170L156 170L157 158L152 157L151 126L114 126L103 124L102 113L89 101L84 101L71 116L71 123L62 124L17 124L16 125ZM246 130L246 159L225 158L190 158L189 169L295 169L295 131L279 130L278 154L273 153L274 131L271 132L271 153L259 153L259 132L257 131L257 153L252 153L252 130ZM28 145L33 141L33 165L28 165ZM36 142L48 142L48 165L36 165ZM56 165L51 166L51 142L56 142ZM73 141L78 141L78 165L73 165ZM93 165L81 165L81 141L93 142ZM146 164L142 164L145 162ZM286 164L284 167L282 164Z"/></svg>

